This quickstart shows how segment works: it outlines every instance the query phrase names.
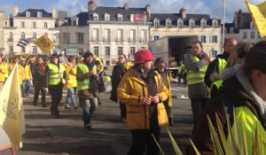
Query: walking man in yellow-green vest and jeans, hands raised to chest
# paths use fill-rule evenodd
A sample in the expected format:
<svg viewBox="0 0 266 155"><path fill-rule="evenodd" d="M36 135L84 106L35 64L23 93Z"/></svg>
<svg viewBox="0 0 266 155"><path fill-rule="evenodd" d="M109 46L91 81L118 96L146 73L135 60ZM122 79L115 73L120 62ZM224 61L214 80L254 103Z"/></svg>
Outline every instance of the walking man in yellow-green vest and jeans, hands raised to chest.
<svg viewBox="0 0 266 155"><path fill-rule="evenodd" d="M98 106L98 88L95 87L98 74L93 54L87 51L83 55L83 63L77 67L76 79L78 97L82 104L83 123L86 130L92 130L90 117ZM94 83L92 83L94 82Z"/></svg>

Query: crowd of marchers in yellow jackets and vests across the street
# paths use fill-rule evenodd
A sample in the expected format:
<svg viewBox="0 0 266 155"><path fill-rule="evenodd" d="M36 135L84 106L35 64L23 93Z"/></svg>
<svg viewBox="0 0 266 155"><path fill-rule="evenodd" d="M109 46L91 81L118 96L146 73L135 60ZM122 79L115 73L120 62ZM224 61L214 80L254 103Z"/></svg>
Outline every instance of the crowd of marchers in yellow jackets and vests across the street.
<svg viewBox="0 0 266 155"><path fill-rule="evenodd" d="M238 43L234 38L229 38L223 44L223 54L213 61L204 52L200 42L192 43L192 48L185 52L179 67L185 71L185 82L191 99L194 122L192 141L202 154L213 154L215 151L207 115L215 122L217 113L225 128L226 115L232 117L234 108L239 120L237 123L248 122L245 124L248 126L246 135L252 137L254 128L259 127L262 128L265 140L265 49L265 41L255 44ZM3 57L0 57L0 90L16 62L18 58L14 57L6 65ZM33 105L37 105L41 91L42 105L46 107L45 94L49 93L51 115L59 118L58 106L62 90L67 89L65 107L73 105L76 110L78 103L82 105L84 128L91 130L91 114L100 104L98 93L105 91L104 66L90 51L85 52L82 58L69 57L66 62L60 63L56 53L45 62L41 56L20 58L22 95L27 96L29 88L34 86ZM137 50L134 64L124 54L120 54L117 64L113 66L110 99L119 103L121 120L127 121L131 132L132 146L129 155L159 154L153 136L160 142L160 128L174 126L172 109L178 103L173 103L171 97L173 78L167 65L163 58L154 58L150 50ZM75 94L79 98L78 103ZM234 123L232 118L230 120ZM217 128L215 123L214 125ZM263 146L266 150L265 143ZM252 141L248 140L248 152L253 149ZM192 147L188 148L188 154L195 154Z"/></svg>

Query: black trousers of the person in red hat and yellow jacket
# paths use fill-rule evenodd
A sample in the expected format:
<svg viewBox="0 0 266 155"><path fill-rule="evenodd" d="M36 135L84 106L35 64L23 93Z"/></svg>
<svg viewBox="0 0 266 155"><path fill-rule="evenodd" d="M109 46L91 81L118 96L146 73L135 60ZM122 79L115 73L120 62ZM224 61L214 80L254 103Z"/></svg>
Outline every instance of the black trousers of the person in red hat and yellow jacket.
<svg viewBox="0 0 266 155"><path fill-rule="evenodd" d="M155 143L153 136L160 142L160 128L150 129L132 129L132 146L128 155L159 155L159 149ZM145 153L145 149L147 149Z"/></svg>

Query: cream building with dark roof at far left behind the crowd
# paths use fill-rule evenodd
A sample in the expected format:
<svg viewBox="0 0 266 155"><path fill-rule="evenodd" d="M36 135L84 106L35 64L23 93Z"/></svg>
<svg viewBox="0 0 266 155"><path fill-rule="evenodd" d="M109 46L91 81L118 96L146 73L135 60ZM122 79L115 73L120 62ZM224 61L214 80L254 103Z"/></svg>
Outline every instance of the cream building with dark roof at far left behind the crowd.
<svg viewBox="0 0 266 155"><path fill-rule="evenodd" d="M43 9L27 9L19 12L18 6L14 6L13 17L4 19L4 53L28 53L38 54L42 51L34 44L35 40L46 34L55 45L59 46L59 28L56 27L56 9L51 13ZM26 48L17 46L20 39L31 42Z"/></svg>

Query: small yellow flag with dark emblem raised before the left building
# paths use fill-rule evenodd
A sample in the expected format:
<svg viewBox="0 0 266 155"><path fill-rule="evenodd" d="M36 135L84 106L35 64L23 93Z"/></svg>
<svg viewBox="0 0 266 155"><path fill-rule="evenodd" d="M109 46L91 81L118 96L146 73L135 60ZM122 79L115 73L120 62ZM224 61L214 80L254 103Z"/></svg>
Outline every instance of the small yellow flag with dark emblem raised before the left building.
<svg viewBox="0 0 266 155"><path fill-rule="evenodd" d="M37 45L44 53L47 53L49 50L54 48L54 44L51 42L47 35L43 35L35 41Z"/></svg>

